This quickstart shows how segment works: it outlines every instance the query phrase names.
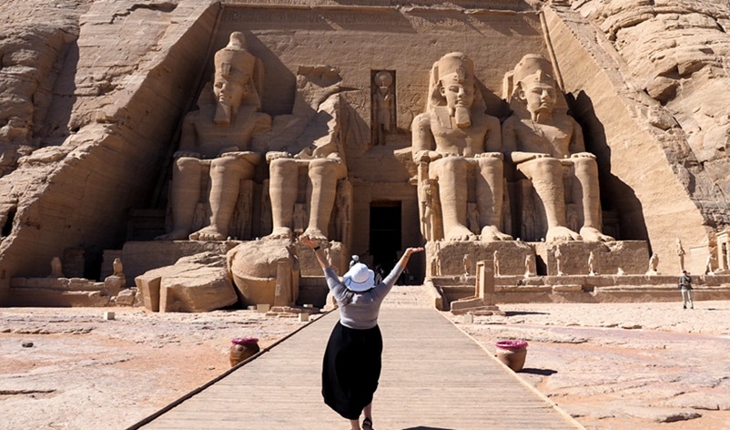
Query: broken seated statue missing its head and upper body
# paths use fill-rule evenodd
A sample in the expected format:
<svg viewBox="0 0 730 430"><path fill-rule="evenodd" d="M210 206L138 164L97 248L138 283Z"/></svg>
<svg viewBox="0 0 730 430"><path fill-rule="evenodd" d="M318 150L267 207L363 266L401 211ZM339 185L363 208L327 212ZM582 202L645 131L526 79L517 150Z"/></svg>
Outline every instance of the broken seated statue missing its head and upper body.
<svg viewBox="0 0 730 430"><path fill-rule="evenodd" d="M271 143L277 150L266 155L273 225L267 238L292 238L295 208L303 203L309 209L304 234L326 241L331 239L330 219L338 189L343 189L338 184L348 173L340 142L341 77L331 67L300 67L297 80L293 114L277 117ZM350 199L351 193L344 197ZM344 208L349 203L338 205L340 218L347 219ZM347 234L338 236L341 240Z"/></svg>

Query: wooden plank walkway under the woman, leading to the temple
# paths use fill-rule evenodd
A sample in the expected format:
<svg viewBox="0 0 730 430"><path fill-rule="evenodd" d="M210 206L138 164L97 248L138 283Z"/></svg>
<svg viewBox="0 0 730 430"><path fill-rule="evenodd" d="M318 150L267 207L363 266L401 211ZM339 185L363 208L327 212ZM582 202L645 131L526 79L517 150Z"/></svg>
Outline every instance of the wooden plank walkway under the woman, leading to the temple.
<svg viewBox="0 0 730 430"><path fill-rule="evenodd" d="M338 318L330 312L130 429L349 429L320 394L322 353ZM373 401L376 430L583 428L439 312L383 308L379 322L384 352Z"/></svg>

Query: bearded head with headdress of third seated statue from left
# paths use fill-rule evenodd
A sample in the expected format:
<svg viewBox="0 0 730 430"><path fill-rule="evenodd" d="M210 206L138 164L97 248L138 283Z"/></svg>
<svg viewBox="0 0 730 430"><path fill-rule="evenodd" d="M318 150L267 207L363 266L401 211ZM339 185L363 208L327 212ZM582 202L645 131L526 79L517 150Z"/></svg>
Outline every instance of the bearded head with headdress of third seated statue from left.
<svg viewBox="0 0 730 430"><path fill-rule="evenodd" d="M477 98L481 99L471 58L461 52L442 56L431 67L429 94L431 107L448 107L458 127L470 127L471 107Z"/></svg>

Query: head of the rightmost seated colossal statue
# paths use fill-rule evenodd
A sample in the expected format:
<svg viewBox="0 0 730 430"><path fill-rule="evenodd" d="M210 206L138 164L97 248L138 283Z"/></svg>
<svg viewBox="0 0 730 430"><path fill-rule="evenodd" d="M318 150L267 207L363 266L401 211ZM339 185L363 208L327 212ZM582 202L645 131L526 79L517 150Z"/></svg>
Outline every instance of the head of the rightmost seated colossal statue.
<svg viewBox="0 0 730 430"><path fill-rule="evenodd" d="M514 96L532 114L551 113L558 102L553 66L543 56L523 56L514 67Z"/></svg>

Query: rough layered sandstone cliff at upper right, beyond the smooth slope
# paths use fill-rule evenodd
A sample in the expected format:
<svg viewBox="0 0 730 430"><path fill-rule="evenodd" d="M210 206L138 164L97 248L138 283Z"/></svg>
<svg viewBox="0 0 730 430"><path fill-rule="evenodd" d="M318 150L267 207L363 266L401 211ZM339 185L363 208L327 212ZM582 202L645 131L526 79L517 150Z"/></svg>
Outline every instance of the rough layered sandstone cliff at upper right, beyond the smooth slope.
<svg viewBox="0 0 730 430"><path fill-rule="evenodd" d="M727 225L730 191L725 4L711 1L573 2L615 49L626 85L656 102L640 102L666 134L660 148L705 225ZM657 117L665 119L656 120ZM668 250L668 246L667 246Z"/></svg>

